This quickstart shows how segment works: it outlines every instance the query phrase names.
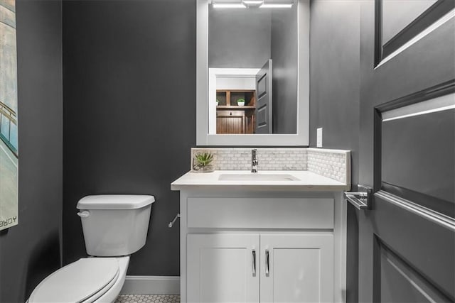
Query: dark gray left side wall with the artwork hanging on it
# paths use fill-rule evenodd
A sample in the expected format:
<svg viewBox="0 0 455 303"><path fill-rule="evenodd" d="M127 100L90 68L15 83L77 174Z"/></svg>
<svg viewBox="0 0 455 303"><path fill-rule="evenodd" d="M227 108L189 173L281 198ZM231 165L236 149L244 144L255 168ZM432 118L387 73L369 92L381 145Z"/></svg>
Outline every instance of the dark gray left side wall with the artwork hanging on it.
<svg viewBox="0 0 455 303"><path fill-rule="evenodd" d="M60 267L61 2L16 1L19 224L0 232L0 302L24 302Z"/></svg>

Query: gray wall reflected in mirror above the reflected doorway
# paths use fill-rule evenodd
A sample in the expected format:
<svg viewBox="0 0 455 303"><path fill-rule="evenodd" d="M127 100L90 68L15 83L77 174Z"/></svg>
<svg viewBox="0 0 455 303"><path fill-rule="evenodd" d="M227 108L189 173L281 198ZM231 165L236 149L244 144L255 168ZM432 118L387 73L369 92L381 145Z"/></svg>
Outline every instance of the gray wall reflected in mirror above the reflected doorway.
<svg viewBox="0 0 455 303"><path fill-rule="evenodd" d="M271 57L268 9L213 9L208 13L208 67L261 68Z"/></svg>

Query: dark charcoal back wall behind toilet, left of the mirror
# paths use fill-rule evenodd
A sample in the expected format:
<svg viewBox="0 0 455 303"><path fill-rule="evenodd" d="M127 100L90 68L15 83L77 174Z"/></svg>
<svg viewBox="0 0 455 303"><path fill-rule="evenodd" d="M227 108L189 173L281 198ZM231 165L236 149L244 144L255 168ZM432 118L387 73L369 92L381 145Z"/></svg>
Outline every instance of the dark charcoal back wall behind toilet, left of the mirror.
<svg viewBox="0 0 455 303"><path fill-rule="evenodd" d="M179 275L171 182L196 145L196 0L63 2L63 260L86 255L77 201L153 194L129 275Z"/></svg>

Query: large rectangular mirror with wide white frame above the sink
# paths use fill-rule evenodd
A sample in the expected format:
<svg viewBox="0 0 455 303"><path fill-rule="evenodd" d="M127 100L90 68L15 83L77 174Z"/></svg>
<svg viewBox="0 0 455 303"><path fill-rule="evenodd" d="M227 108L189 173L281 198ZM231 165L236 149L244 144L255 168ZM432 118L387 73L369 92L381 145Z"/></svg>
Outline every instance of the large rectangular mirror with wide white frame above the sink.
<svg viewBox="0 0 455 303"><path fill-rule="evenodd" d="M309 145L309 0L197 6L197 145Z"/></svg>

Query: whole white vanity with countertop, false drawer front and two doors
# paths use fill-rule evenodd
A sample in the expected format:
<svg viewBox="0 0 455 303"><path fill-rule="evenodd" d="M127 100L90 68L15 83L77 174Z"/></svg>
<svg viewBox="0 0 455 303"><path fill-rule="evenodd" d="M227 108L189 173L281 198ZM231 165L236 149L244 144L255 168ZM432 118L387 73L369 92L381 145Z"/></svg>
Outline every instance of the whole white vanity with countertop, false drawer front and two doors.
<svg viewBox="0 0 455 303"><path fill-rule="evenodd" d="M307 171L279 182L220 180L226 173L171 184L181 302L345 302L349 185Z"/></svg>

